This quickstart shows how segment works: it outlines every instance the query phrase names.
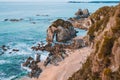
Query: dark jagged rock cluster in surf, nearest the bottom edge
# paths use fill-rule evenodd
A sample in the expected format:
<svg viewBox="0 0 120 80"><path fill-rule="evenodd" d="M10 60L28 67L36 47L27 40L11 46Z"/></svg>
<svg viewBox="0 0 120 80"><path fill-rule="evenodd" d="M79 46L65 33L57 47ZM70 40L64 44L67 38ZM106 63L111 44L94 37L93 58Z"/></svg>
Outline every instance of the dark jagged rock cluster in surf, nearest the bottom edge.
<svg viewBox="0 0 120 80"><path fill-rule="evenodd" d="M29 77L35 77L38 78L40 73L42 72L42 69L38 67L38 63L40 62L40 55L35 55L35 60L32 57L28 57L27 60L22 64L22 68L28 70Z"/></svg>

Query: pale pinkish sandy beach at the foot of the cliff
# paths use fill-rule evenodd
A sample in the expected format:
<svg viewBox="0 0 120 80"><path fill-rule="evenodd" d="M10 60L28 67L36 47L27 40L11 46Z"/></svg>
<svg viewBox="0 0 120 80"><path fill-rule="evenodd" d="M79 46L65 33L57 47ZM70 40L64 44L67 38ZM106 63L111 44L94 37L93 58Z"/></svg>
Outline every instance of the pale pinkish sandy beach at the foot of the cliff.
<svg viewBox="0 0 120 80"><path fill-rule="evenodd" d="M74 72L82 67L87 57L90 55L91 48L84 47L76 50L67 50L69 54L58 66L48 65L43 68L39 78L23 78L22 80L67 80ZM40 65L39 63L38 65Z"/></svg>

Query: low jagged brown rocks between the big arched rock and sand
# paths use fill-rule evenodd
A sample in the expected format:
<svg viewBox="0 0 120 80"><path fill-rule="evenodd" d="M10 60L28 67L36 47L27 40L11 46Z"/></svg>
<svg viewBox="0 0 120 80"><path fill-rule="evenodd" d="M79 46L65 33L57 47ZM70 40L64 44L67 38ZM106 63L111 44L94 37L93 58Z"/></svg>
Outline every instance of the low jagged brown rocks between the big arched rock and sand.
<svg viewBox="0 0 120 80"><path fill-rule="evenodd" d="M44 61L44 66L47 66L48 64L58 65L58 62L62 61L65 57L68 55L66 54L65 48L67 48L69 45L65 44L58 44L54 43L48 43L44 46L41 46L38 44L38 46L32 47L33 50L38 51L47 51L49 52L49 55L47 56L47 59ZM39 61L39 55L36 55L35 61Z"/></svg>

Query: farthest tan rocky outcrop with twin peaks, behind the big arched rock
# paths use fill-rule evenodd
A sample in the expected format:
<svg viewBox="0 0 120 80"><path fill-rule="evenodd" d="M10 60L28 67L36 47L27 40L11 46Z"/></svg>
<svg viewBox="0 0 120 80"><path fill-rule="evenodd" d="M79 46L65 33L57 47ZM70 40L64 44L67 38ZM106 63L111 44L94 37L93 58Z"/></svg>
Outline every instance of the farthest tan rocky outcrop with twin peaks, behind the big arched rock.
<svg viewBox="0 0 120 80"><path fill-rule="evenodd" d="M88 9L85 9L83 11L79 9L75 15L76 16L74 18L69 19L72 25L76 28L88 30L92 25L92 20L89 18L90 13Z"/></svg>

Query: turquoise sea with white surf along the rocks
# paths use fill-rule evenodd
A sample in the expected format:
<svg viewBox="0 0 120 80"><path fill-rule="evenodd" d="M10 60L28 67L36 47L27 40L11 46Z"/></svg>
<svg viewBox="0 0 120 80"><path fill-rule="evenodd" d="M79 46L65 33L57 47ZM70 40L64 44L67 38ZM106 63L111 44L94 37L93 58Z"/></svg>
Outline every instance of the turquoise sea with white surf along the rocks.
<svg viewBox="0 0 120 80"><path fill-rule="evenodd" d="M89 9L90 13L102 6L116 4L95 3L0 3L0 46L6 45L10 49L0 55L0 80L14 80L24 76L26 71L21 63L35 52L31 46L46 39L46 30L56 19L74 17L79 9ZM36 16L39 14L39 16ZM20 19L19 22L4 21L4 19ZM36 24L33 24L35 22ZM78 30L78 35L85 35L86 31ZM19 49L19 52L11 52ZM0 49L0 54L2 50ZM45 59L47 53L42 54Z"/></svg>

